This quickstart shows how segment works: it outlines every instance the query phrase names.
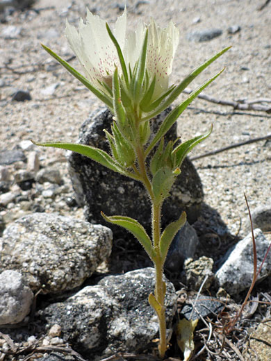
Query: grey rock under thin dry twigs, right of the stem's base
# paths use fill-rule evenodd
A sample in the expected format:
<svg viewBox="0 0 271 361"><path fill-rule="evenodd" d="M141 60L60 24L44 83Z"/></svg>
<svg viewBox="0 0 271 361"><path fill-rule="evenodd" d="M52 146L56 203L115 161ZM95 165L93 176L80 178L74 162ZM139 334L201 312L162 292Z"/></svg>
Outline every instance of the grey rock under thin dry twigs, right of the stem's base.
<svg viewBox="0 0 271 361"><path fill-rule="evenodd" d="M201 295L197 299L195 295L192 299L186 301L186 305L181 309L181 315L186 319L199 319L202 317L213 317L215 314L221 312L224 308L222 302L213 299L211 296Z"/></svg>

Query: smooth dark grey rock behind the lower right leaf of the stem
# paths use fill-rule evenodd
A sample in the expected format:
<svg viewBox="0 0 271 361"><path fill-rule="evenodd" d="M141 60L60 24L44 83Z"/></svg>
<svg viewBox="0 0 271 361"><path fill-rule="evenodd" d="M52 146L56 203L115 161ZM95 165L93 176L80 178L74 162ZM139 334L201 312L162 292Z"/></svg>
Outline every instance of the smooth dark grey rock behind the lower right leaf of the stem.
<svg viewBox="0 0 271 361"><path fill-rule="evenodd" d="M183 262L187 258L193 258L199 239L195 229L190 226L188 222L181 228L167 253L167 260L165 261L165 268L170 271L180 271L183 267Z"/></svg>

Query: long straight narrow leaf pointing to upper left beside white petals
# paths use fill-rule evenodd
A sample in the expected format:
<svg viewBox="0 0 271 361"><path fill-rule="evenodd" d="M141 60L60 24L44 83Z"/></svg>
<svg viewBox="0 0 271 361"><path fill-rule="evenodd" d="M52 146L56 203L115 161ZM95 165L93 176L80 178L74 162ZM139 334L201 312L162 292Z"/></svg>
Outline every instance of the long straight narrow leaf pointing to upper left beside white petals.
<svg viewBox="0 0 271 361"><path fill-rule="evenodd" d="M60 62L60 64L63 67L65 67L65 69L67 69L67 71L70 74L72 74L73 76L75 76L75 78L77 78L79 81L81 81L81 83L83 83L83 85L85 85L85 87L87 87L90 90L90 92L95 94L101 101L103 101L106 104L106 106L108 106L110 109L113 108L113 103L108 95L97 90L96 87L94 87L90 83L90 81L88 81L88 79L85 78L85 76L83 76L82 74L77 72L71 65L69 65L68 62L66 62L63 58L60 58L60 56L58 56L56 53L54 53L54 51L52 51L51 49L49 49L48 47L46 47L43 44L42 44L42 47L44 50L47 51L47 53L49 53L53 58L55 58L58 62Z"/></svg>

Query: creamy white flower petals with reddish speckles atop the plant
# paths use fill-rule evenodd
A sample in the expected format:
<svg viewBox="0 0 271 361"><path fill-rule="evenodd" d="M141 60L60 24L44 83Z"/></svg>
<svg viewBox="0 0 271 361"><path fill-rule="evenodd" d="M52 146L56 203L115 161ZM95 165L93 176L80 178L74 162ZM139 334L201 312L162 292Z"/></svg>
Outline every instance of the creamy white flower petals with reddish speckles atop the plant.
<svg viewBox="0 0 271 361"><path fill-rule="evenodd" d="M131 69L140 57L146 28L149 28L146 67L151 78L156 74L154 97L167 90L168 77L172 72L172 61L179 42L179 31L172 22L167 28L160 28L151 19L148 26L140 24L136 31L126 36L126 8L115 23L113 34L120 44L126 67ZM120 60L115 45L106 30L106 22L87 10L86 22L80 20L78 31L67 22L65 35L69 47L74 51L86 78L97 88L104 91L101 82L110 85L117 66L121 72Z"/></svg>

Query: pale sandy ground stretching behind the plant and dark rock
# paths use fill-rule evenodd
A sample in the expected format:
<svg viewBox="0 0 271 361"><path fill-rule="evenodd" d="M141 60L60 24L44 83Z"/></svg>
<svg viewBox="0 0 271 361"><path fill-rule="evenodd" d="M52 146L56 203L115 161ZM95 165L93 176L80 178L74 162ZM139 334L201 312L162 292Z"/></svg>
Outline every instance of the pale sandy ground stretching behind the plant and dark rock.
<svg viewBox="0 0 271 361"><path fill-rule="evenodd" d="M195 89L226 67L205 93L229 101L271 98L271 4L258 10L263 3L263 0L126 1L131 29L139 19L148 22L149 16L161 26L172 20L179 27L180 43L172 83L178 83L194 67L231 45L222 58L190 85ZM82 122L90 111L101 105L40 47L42 42L65 59L72 56L63 35L65 19L78 24L79 18L85 16L86 6L113 24L121 14L123 2L40 0L34 6L38 12L15 12L7 17L6 24L0 24L1 149L13 149L19 141L29 138L76 141ZM235 25L240 26L240 31L229 34L229 26ZM6 38L3 31L7 26L19 28L19 35ZM209 28L220 28L222 35L208 42L186 39L188 33ZM77 60L71 64L80 69ZM44 93L51 84L56 84L54 94ZM28 90L32 100L12 102L15 89ZM198 99L181 115L179 135L187 140L204 133L211 124L213 134L192 156L271 133L271 116L266 112L234 111L229 106ZM257 142L195 161L204 184L206 203L220 212L232 233L238 230L240 219L247 217L244 191L252 209L270 203L270 148L271 142ZM42 149L40 153L45 163L51 158L63 157L61 151L53 149ZM65 171L65 165L61 167Z"/></svg>

